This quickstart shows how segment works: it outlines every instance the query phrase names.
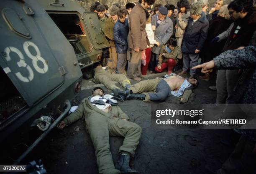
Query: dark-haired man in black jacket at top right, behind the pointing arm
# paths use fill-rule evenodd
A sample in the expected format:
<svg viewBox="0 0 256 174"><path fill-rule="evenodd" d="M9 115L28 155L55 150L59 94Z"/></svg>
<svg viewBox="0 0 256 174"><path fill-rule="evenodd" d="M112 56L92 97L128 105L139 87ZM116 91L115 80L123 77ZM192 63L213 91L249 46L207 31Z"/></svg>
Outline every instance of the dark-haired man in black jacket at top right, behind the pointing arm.
<svg viewBox="0 0 256 174"><path fill-rule="evenodd" d="M256 30L256 12L253 11L253 0L234 0L228 5L228 10L235 22L223 52L248 46ZM216 82L217 104L226 103L226 100L236 86L238 78L238 70L218 71Z"/></svg>

